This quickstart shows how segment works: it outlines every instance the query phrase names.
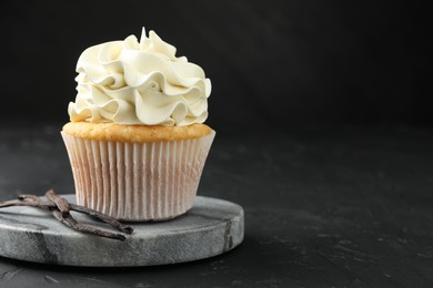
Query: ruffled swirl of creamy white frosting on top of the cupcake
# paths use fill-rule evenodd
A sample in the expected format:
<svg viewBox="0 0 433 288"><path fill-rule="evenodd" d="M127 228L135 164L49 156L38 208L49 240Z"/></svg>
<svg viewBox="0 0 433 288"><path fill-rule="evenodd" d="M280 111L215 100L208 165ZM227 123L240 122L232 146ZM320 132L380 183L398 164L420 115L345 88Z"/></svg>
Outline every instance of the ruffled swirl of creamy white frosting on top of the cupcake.
<svg viewBox="0 0 433 288"><path fill-rule="evenodd" d="M72 122L183 126L208 117L211 81L153 31L88 48L77 72Z"/></svg>

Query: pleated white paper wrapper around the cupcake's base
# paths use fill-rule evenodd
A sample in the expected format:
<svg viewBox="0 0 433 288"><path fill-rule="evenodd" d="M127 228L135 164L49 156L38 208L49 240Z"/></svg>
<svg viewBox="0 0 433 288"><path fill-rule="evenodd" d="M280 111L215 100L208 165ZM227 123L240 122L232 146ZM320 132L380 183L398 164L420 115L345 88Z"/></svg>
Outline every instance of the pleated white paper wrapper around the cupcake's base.
<svg viewBox="0 0 433 288"><path fill-rule="evenodd" d="M163 220L190 209L215 133L193 140L122 143L61 133L77 203L122 220Z"/></svg>

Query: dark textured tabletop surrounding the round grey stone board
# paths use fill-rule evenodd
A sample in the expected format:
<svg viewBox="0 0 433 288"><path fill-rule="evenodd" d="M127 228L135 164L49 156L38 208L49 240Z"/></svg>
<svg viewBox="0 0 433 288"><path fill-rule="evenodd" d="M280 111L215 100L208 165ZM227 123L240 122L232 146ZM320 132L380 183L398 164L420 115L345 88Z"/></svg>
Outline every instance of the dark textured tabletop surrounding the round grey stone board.
<svg viewBox="0 0 433 288"><path fill-rule="evenodd" d="M0 124L0 200L73 193L60 127ZM239 247L132 268L0 257L0 287L432 287L432 151L422 127L219 132L199 194L243 206Z"/></svg>

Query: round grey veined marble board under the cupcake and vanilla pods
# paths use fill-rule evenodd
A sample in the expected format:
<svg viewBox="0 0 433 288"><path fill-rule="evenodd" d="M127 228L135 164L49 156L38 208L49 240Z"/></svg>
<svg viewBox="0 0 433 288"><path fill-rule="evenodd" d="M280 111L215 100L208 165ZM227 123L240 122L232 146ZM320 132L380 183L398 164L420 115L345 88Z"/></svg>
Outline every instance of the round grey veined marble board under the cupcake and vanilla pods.
<svg viewBox="0 0 433 288"><path fill-rule="evenodd" d="M74 195L61 195L74 203ZM87 215L77 220L111 227ZM158 223L130 223L134 233L113 240L75 232L33 207L0 210L0 256L70 266L151 266L191 261L228 251L243 240L241 206L198 196L184 215Z"/></svg>

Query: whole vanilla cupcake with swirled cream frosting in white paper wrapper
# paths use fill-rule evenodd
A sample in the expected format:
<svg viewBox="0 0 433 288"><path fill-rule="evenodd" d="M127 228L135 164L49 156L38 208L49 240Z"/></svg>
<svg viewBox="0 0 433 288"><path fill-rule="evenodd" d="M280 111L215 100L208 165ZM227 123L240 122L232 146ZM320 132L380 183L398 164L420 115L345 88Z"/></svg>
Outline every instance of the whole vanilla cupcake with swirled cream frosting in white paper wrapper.
<svg viewBox="0 0 433 288"><path fill-rule="evenodd" d="M155 32L90 47L77 63L75 102L61 132L77 203L121 220L190 209L215 132L211 82Z"/></svg>

